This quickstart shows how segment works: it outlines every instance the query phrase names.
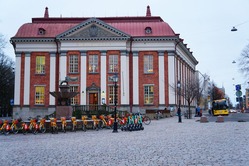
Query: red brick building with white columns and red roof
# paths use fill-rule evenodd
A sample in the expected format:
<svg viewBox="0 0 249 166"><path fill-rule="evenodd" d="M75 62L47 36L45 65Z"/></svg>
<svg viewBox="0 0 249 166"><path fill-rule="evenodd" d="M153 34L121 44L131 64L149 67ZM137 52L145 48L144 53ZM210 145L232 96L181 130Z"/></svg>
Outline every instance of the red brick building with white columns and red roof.
<svg viewBox="0 0 249 166"><path fill-rule="evenodd" d="M118 110L164 109L177 104L171 86L194 77L197 60L159 16L32 18L11 38L16 54L14 117L51 114L49 92L71 78L78 105L113 105L117 73ZM183 105L185 102L183 101Z"/></svg>

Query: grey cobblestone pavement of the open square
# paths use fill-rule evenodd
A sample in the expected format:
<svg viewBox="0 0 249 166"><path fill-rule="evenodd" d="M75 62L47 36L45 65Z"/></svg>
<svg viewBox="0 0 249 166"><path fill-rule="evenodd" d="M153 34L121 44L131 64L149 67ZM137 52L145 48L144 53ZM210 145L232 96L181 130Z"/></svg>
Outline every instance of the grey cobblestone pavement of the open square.
<svg viewBox="0 0 249 166"><path fill-rule="evenodd" d="M143 131L0 135L3 166L248 166L248 122L153 120Z"/></svg>

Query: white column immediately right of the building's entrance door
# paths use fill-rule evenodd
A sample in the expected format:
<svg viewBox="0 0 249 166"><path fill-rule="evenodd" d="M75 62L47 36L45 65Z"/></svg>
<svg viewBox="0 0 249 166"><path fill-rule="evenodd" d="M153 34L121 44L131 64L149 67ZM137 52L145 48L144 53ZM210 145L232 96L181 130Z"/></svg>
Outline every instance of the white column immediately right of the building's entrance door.
<svg viewBox="0 0 249 166"><path fill-rule="evenodd" d="M101 73L100 73L100 89L101 89L101 104L106 103L106 51L101 51Z"/></svg>

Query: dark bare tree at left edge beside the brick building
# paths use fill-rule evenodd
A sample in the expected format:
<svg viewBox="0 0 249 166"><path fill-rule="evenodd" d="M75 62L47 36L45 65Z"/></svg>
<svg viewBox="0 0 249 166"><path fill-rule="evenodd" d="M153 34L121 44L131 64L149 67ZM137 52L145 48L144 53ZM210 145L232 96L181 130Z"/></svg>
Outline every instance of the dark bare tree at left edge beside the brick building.
<svg viewBox="0 0 249 166"><path fill-rule="evenodd" d="M10 115L14 98L14 61L4 54L5 40L0 35L0 115Z"/></svg>

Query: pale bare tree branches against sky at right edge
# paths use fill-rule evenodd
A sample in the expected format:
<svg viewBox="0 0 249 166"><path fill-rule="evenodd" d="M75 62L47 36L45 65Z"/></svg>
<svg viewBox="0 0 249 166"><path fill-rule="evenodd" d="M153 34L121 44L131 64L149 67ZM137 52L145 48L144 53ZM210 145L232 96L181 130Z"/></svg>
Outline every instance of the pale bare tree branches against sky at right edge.
<svg viewBox="0 0 249 166"><path fill-rule="evenodd" d="M238 64L239 71L249 79L249 44L242 50Z"/></svg>

